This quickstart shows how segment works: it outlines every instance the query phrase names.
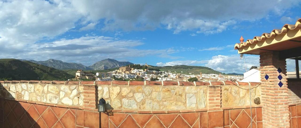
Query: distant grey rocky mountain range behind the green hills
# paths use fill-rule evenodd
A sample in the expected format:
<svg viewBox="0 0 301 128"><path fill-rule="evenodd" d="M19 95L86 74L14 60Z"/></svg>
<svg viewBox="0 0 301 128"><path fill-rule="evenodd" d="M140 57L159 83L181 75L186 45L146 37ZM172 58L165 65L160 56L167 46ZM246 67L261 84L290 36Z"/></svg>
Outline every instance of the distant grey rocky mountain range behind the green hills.
<svg viewBox="0 0 301 128"><path fill-rule="evenodd" d="M49 59L47 61L35 61L35 60L22 60L19 59L20 61L30 61L36 64L42 64L48 67L53 67L55 69L59 70L69 70L69 69L81 69L81 70L105 70L105 69L111 69L111 68L116 68L116 67L122 67L126 66L129 64L133 64L131 62L120 62L116 61L114 59L104 59L101 61L96 62L95 64L92 64L91 66L85 66L83 64L79 63L67 63L63 62L60 60L55 60L55 59Z"/></svg>

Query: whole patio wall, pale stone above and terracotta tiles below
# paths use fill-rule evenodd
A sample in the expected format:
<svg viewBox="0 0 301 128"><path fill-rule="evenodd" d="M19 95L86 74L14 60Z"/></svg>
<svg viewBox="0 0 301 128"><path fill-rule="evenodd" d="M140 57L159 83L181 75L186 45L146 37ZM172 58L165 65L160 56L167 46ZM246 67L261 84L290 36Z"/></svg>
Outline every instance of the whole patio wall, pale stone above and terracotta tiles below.
<svg viewBox="0 0 301 128"><path fill-rule="evenodd" d="M0 127L249 127L249 84L252 124L262 127L259 83L1 81ZM100 98L106 112L97 112Z"/></svg>

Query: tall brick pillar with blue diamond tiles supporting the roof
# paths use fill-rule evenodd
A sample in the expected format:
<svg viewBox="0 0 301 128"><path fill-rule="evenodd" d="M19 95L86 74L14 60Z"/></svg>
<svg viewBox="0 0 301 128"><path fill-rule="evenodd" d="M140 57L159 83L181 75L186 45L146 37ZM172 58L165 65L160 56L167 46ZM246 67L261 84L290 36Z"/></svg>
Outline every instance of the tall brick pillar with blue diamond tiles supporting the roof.
<svg viewBox="0 0 301 128"><path fill-rule="evenodd" d="M260 54L263 127L290 127L287 94L286 61L279 52ZM281 68L281 73L277 70ZM278 76L281 74L281 80ZM265 79L268 75L268 80ZM282 87L278 83L282 82Z"/></svg>

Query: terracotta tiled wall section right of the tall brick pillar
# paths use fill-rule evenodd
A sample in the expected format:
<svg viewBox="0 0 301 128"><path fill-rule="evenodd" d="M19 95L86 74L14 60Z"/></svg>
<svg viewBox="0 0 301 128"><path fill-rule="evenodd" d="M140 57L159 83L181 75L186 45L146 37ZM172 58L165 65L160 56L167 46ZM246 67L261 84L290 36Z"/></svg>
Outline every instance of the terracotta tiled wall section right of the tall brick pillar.
<svg viewBox="0 0 301 128"><path fill-rule="evenodd" d="M301 128L301 105L289 106L290 127Z"/></svg>

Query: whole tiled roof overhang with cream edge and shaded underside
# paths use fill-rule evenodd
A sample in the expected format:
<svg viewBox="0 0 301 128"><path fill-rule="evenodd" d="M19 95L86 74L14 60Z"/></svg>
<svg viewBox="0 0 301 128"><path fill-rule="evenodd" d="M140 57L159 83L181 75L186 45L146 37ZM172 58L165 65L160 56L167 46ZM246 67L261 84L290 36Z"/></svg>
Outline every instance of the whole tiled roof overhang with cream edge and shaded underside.
<svg viewBox="0 0 301 128"><path fill-rule="evenodd" d="M237 43L234 49L239 54L259 55L268 51L284 51L301 47L301 19L295 25L284 25L281 30L274 29L271 33L264 33L246 42Z"/></svg>

